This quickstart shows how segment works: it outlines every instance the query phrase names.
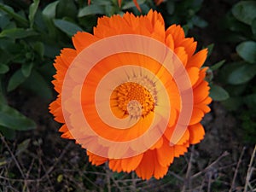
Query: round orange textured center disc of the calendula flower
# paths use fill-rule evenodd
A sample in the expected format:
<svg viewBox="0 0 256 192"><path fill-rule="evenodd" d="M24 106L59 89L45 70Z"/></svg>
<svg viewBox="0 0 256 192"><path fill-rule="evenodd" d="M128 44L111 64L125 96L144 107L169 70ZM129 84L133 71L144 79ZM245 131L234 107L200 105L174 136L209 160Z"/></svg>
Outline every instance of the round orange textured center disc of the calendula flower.
<svg viewBox="0 0 256 192"><path fill-rule="evenodd" d="M143 85L135 82L120 84L113 90L117 107L131 118L145 117L154 111L154 97Z"/></svg>

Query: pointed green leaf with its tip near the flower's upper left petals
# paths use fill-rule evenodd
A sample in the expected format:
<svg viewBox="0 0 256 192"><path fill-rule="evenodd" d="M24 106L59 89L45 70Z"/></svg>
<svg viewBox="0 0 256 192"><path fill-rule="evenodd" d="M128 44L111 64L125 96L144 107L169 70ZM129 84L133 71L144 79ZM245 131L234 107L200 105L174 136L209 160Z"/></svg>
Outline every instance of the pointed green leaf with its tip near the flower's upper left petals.
<svg viewBox="0 0 256 192"><path fill-rule="evenodd" d="M76 24L67 20L54 20L55 26L57 26L62 32L65 32L68 36L72 37L77 32L83 32L84 30Z"/></svg>

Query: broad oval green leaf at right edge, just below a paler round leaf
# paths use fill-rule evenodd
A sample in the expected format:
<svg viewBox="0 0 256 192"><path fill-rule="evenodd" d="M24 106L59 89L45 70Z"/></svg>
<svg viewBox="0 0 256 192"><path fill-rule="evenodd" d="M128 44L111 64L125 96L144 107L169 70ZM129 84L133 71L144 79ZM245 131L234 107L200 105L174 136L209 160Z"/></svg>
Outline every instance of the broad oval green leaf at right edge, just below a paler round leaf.
<svg viewBox="0 0 256 192"><path fill-rule="evenodd" d="M230 66L230 72L225 75L230 84L244 84L256 75L256 65L235 63Z"/></svg>

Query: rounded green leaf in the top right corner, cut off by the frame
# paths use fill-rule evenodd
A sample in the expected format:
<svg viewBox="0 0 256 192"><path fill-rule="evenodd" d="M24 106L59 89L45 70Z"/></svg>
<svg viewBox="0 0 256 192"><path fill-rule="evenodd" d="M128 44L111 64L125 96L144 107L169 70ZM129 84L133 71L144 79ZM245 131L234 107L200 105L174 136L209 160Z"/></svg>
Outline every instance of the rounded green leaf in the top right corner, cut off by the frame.
<svg viewBox="0 0 256 192"><path fill-rule="evenodd" d="M255 1L241 1L236 3L232 9L232 14L237 20L251 25L256 18L256 2Z"/></svg>

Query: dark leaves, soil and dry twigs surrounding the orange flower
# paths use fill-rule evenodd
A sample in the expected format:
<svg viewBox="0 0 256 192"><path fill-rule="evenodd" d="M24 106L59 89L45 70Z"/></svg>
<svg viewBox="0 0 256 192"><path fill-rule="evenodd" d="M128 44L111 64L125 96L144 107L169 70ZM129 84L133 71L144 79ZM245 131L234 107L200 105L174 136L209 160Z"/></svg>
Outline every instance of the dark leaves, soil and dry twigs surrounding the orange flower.
<svg viewBox="0 0 256 192"><path fill-rule="evenodd" d="M256 2L238 0L0 0L0 191L256 191ZM61 139L48 105L53 61L97 17L156 9L166 26L183 26L206 65L212 112L204 141L174 161L166 177L91 166L85 151Z"/></svg>

